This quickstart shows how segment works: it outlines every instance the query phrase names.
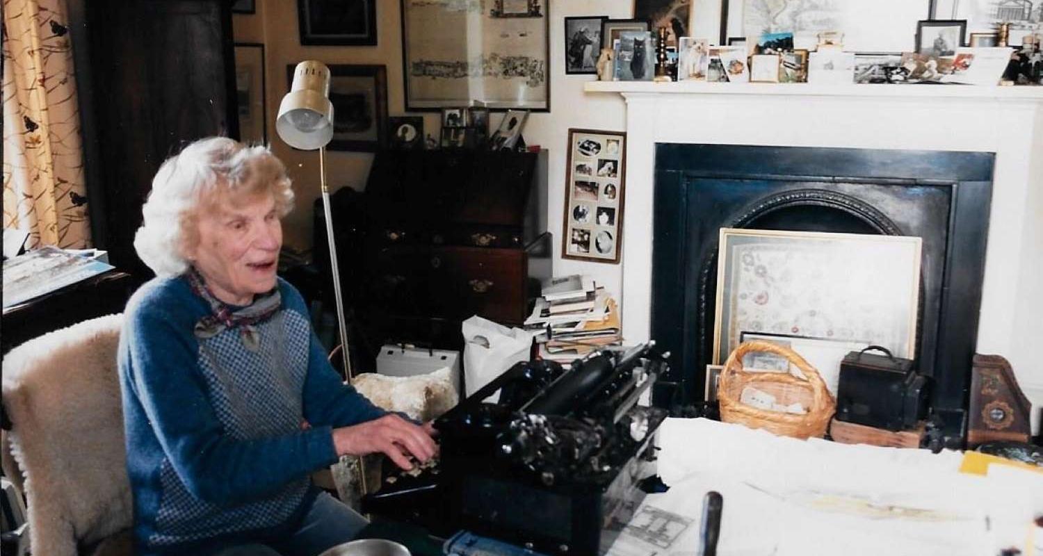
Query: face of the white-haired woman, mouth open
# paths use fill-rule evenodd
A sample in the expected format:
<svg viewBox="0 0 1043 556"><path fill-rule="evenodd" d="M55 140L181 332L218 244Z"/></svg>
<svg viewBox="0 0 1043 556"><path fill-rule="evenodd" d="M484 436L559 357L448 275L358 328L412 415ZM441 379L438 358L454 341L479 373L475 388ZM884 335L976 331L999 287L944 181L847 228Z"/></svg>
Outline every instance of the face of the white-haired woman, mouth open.
<svg viewBox="0 0 1043 556"><path fill-rule="evenodd" d="M249 305L275 287L283 225L270 193L222 198L200 212L198 227L187 255L215 297Z"/></svg>

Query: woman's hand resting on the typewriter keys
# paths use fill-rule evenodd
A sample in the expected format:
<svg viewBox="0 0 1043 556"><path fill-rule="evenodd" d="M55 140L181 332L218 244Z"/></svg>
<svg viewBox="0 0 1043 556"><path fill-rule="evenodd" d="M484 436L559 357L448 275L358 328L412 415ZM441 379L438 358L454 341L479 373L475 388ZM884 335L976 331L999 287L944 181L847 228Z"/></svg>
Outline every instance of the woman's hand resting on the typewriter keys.
<svg viewBox="0 0 1043 556"><path fill-rule="evenodd" d="M380 452L399 467L411 469L410 455L425 462L438 451L431 438L432 432L430 424L416 426L388 413L373 420L334 429L333 445L338 456L365 456Z"/></svg>

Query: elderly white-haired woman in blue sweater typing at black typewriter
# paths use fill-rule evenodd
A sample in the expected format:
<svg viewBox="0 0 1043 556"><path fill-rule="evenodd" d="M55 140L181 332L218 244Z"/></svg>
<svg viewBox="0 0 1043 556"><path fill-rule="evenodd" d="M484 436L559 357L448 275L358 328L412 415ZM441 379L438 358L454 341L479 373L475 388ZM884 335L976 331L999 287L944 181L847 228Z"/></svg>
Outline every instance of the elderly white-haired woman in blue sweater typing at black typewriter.
<svg viewBox="0 0 1043 556"><path fill-rule="evenodd" d="M429 426L341 383L275 275L292 202L268 149L225 138L152 180L135 247L156 277L127 305L119 352L139 554L319 554L365 519L311 472L435 453Z"/></svg>

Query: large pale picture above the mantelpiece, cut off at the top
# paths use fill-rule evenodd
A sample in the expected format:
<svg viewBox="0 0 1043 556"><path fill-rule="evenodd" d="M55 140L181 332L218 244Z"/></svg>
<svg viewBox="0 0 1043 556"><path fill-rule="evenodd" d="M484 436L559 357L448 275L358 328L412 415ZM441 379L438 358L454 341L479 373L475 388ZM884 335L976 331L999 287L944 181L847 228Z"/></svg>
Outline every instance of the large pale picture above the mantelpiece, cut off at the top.
<svg viewBox="0 0 1043 556"><path fill-rule="evenodd" d="M930 3L931 0L722 0L720 40L721 44L728 37L748 37L752 41L766 32L785 29L794 33L795 42L800 41L796 48L811 48L819 31L843 29L845 50L903 52L909 49L909 31L916 22L929 17Z"/></svg>

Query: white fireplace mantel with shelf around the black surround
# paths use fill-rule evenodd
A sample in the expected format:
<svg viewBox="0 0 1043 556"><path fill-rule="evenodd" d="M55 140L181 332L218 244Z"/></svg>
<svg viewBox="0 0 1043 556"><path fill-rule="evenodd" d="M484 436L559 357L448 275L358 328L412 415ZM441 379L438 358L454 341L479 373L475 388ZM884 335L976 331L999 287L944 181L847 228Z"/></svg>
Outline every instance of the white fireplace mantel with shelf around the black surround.
<svg viewBox="0 0 1043 556"><path fill-rule="evenodd" d="M1043 389L1043 87L591 81L627 102L623 331L649 339L656 143L996 154L977 345ZM944 325L944 323L943 323Z"/></svg>

